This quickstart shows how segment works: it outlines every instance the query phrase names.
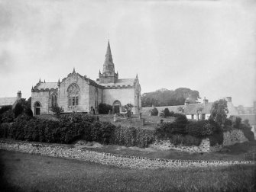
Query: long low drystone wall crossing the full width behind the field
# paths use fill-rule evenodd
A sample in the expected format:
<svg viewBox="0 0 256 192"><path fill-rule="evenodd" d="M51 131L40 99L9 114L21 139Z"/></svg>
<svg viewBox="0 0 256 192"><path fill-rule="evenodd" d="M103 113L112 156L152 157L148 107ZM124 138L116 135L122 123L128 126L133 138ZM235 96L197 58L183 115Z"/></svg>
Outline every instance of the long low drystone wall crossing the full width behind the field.
<svg viewBox="0 0 256 192"><path fill-rule="evenodd" d="M50 144L45 145L30 142L9 142L6 140L0 140L0 149L28 152L51 157L71 158L82 161L96 162L103 165L115 165L122 168L187 168L252 163L251 161L199 161L143 158L128 155L115 155L105 152L95 152L68 146L54 146Z"/></svg>

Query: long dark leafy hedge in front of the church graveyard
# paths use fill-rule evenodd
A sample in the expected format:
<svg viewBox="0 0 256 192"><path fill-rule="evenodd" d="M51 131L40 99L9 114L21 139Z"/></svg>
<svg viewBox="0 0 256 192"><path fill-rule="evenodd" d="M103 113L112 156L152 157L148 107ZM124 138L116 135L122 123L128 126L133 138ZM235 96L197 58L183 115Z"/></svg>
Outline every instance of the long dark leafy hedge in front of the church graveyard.
<svg viewBox="0 0 256 192"><path fill-rule="evenodd" d="M0 137L54 143L86 139L103 144L147 147L154 142L154 131L115 126L87 114L65 114L58 121L21 115L14 123L0 125Z"/></svg>

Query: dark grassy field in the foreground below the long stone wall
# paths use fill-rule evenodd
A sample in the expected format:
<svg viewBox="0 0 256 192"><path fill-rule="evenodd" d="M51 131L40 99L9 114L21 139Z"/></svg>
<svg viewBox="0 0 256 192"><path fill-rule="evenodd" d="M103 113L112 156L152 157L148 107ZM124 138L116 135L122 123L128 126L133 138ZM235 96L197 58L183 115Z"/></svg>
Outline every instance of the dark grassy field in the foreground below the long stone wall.
<svg viewBox="0 0 256 192"><path fill-rule="evenodd" d="M3 150L0 157L0 191L256 190L253 165L138 170Z"/></svg>

